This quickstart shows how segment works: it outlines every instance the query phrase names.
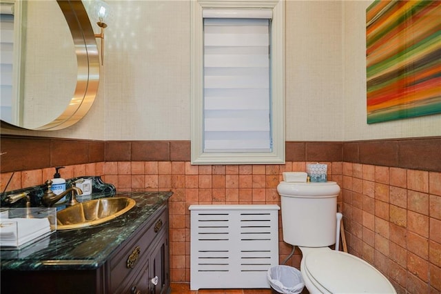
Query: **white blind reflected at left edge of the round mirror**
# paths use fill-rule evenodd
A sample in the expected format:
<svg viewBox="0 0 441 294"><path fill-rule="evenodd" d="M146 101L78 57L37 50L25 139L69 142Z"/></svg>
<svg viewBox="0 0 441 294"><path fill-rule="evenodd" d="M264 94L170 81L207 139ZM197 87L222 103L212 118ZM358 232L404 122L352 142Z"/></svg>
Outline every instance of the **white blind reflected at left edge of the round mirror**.
<svg viewBox="0 0 441 294"><path fill-rule="evenodd" d="M12 63L14 60L14 15L12 5L0 6L0 117L12 121Z"/></svg>

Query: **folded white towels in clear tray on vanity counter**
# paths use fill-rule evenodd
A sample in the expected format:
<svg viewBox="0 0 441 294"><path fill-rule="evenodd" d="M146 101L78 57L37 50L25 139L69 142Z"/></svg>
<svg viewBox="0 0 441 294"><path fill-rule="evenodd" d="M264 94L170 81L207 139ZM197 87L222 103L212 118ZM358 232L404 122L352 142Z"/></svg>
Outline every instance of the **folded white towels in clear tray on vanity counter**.
<svg viewBox="0 0 441 294"><path fill-rule="evenodd" d="M50 232L47 217L42 219L0 219L0 246L21 246Z"/></svg>

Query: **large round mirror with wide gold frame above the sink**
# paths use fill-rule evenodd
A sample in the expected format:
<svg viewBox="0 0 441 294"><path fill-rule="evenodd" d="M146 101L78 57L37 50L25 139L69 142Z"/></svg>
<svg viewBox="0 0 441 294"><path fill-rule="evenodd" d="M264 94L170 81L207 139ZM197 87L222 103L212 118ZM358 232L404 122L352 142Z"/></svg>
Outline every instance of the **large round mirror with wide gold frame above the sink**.
<svg viewBox="0 0 441 294"><path fill-rule="evenodd" d="M2 108L1 127L72 126L92 106L99 84L98 49L83 3L21 0L14 5L19 54L13 58L11 114L3 115Z"/></svg>

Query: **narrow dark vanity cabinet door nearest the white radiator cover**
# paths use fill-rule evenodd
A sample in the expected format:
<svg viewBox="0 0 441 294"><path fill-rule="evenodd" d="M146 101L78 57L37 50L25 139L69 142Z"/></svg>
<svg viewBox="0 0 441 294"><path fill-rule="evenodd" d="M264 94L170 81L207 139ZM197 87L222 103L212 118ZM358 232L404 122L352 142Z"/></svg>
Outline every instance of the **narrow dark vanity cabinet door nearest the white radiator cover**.
<svg viewBox="0 0 441 294"><path fill-rule="evenodd" d="M163 232L150 255L150 293L167 293L169 281L168 232Z"/></svg>

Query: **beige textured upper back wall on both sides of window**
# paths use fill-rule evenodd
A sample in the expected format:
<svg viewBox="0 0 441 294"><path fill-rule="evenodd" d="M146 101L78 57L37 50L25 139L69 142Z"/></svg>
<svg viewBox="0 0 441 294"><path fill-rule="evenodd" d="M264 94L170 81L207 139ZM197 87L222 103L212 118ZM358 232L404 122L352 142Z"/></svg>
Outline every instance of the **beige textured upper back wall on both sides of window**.
<svg viewBox="0 0 441 294"><path fill-rule="evenodd" d="M188 140L189 1L111 4L105 138ZM339 1L287 1L288 140L342 139L341 11Z"/></svg>

